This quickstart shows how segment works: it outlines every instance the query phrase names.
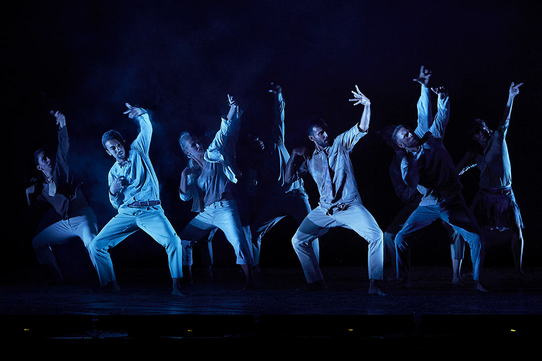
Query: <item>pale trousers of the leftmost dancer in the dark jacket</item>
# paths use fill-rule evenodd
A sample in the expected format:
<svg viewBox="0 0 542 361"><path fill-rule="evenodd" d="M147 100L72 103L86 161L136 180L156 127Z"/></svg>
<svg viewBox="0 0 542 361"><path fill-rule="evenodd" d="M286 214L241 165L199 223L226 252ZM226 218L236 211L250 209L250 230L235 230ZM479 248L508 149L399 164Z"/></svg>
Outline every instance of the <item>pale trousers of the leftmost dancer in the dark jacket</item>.
<svg viewBox="0 0 542 361"><path fill-rule="evenodd" d="M40 265L54 263L55 256L51 246L61 245L70 238L79 237L87 250L89 245L98 233L98 222L92 208L81 209L81 215L58 221L43 229L32 240L32 246ZM91 261L96 266L94 257L91 254Z"/></svg>

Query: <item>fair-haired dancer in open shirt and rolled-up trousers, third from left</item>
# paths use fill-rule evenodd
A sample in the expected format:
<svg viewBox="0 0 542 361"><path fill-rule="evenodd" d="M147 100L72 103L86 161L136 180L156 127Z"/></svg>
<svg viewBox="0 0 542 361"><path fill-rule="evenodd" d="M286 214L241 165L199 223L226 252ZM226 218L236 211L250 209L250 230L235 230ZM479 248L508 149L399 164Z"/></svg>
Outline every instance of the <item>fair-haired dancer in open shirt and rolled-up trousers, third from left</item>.
<svg viewBox="0 0 542 361"><path fill-rule="evenodd" d="M228 103L229 113L222 117L220 130L207 149L189 132L183 132L179 137L179 145L189 158L189 166L181 174L180 199L192 199L192 212L198 212L180 233L183 266L186 266L189 283L192 283L192 244L218 227L234 247L237 264L241 265L245 275L245 288L250 289L254 288L250 245L233 197L233 185L239 174L235 145L242 111L229 95Z"/></svg>

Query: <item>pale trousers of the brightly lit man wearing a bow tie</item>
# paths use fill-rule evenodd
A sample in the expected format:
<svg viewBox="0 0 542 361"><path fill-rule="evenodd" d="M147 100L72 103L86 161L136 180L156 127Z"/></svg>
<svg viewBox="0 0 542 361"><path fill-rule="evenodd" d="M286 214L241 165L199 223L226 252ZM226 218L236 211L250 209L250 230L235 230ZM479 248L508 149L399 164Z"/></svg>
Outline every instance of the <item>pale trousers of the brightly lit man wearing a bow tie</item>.
<svg viewBox="0 0 542 361"><path fill-rule="evenodd" d="M183 277L180 239L164 215L162 207L130 208L115 215L91 243L91 255L96 260L96 270L102 286L116 279L109 248L118 245L139 229L143 229L166 249L171 278Z"/></svg>

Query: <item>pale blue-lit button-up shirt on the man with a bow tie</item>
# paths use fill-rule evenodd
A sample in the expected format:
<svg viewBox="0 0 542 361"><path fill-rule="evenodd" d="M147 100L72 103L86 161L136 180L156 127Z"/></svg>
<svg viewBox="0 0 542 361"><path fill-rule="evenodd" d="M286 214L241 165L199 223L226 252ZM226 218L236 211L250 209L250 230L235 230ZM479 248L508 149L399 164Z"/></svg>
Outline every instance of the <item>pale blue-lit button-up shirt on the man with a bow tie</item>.
<svg viewBox="0 0 542 361"><path fill-rule="evenodd" d="M124 176L127 186L116 195L109 192L109 200L119 212L126 211L129 204L137 201L159 200L158 178L149 159L152 124L148 113L135 117L139 122L139 134L130 145L127 161L116 161L109 170L109 187L113 180Z"/></svg>

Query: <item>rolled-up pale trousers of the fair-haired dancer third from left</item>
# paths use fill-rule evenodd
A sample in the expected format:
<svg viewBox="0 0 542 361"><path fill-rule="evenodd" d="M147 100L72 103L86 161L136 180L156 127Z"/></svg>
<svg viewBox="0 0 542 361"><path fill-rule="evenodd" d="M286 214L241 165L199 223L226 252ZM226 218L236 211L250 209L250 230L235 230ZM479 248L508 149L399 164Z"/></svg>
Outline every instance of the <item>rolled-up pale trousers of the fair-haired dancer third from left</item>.
<svg viewBox="0 0 542 361"><path fill-rule="evenodd" d="M250 236L244 234L239 212L234 200L218 201L205 207L203 212L193 218L179 234L183 246L183 265L192 265L192 247L196 241L207 235L212 229L221 229L228 242L234 247L236 263L238 265L251 265ZM247 229L250 232L250 229ZM210 255L203 255L205 259L212 260L210 240L206 241Z"/></svg>

